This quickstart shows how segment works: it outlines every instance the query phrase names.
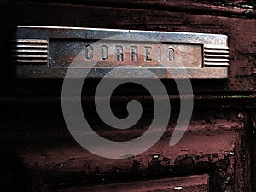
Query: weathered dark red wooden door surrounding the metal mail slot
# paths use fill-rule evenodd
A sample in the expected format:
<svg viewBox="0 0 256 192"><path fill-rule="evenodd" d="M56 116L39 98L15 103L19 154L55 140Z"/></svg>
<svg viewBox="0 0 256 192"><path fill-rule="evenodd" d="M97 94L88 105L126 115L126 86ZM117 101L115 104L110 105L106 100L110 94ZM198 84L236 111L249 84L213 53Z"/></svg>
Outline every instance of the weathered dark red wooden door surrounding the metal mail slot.
<svg viewBox="0 0 256 192"><path fill-rule="evenodd" d="M253 3L253 0L0 1L0 191L255 191L256 13ZM37 33L29 30L19 33L17 26L219 34L228 38L229 49L183 45L188 50L183 57L195 49L193 60L194 56L205 54L206 63L210 66L217 63L219 67L219 71L195 70L193 77L189 76L194 107L184 136L170 146L178 118L181 112L186 113L181 109L181 101L187 100L180 96L173 77L159 74L172 107L165 133L143 154L129 153L114 160L82 148L67 129L61 110L65 76L61 67L56 73L44 71L45 66L40 67L42 63L32 60L37 57L34 52L32 59L28 58L30 63L18 61L25 61L20 50L27 52L33 48L43 58L39 60L43 65L51 62L51 67L55 67L44 53L55 57L55 61L67 61L69 58L63 56L57 60L55 54L63 54L61 49L69 43L62 44L53 38L54 45L49 49L48 43L35 39L25 43L13 41L17 36L32 39ZM65 36L65 30L60 34L57 31L56 37L61 32L64 32L61 37ZM79 34L76 38L89 39ZM68 51L73 49L76 48ZM90 59L92 49L87 47L87 51L85 56ZM168 51L171 61L171 50ZM150 59L148 53L143 55L145 60ZM135 59L132 54L131 59ZM178 58L182 60L182 56ZM113 81L119 76L122 75L113 75ZM94 94L98 83L99 79L86 79L81 97L85 118L96 133L115 142L129 141L145 133L155 110L154 98L148 90L141 84L130 83L113 91L110 103L116 117L124 119L129 115L126 107L131 100L141 102L143 107L142 118L137 119L136 125L129 130L118 130L104 124L96 113ZM106 100L104 96L101 99ZM108 149L106 146L104 151Z"/></svg>

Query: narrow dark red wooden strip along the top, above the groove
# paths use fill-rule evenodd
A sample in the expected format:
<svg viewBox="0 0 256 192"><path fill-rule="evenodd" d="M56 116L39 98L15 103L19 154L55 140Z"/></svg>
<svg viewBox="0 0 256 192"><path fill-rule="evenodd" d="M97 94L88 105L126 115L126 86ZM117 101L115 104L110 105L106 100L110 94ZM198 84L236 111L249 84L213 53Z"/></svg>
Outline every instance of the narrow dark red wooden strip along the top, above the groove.
<svg viewBox="0 0 256 192"><path fill-rule="evenodd" d="M19 2L11 0L9 2ZM96 5L108 7L123 7L123 8L143 8L143 9L178 9L176 11L187 10L190 13L196 13L197 10L211 11L208 14L214 13L245 13L250 15L253 12L253 3L255 0L23 0L22 2L32 3L55 3L55 4L79 4L79 5ZM197 12L198 13L198 12Z"/></svg>

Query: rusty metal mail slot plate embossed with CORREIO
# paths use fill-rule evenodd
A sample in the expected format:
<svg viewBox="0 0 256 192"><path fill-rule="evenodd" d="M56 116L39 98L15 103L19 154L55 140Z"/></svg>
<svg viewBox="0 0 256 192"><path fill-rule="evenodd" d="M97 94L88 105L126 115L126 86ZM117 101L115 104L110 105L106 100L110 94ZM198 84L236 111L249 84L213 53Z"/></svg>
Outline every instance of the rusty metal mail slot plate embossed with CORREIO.
<svg viewBox="0 0 256 192"><path fill-rule="evenodd" d="M147 68L163 79L222 79L230 65L228 38L216 34L17 26L11 47L20 78L64 78L70 67L102 78L122 67L113 78L147 78Z"/></svg>

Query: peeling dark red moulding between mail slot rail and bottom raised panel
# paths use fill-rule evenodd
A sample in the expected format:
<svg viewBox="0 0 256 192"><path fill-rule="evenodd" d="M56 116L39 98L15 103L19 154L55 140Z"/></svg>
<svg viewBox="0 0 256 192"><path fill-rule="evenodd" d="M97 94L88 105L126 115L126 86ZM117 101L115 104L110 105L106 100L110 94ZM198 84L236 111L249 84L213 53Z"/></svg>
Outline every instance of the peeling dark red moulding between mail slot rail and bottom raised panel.
<svg viewBox="0 0 256 192"><path fill-rule="evenodd" d="M9 119L9 113L15 120ZM124 160L102 158L81 148L67 131L61 113L56 110L35 112L17 108L15 112L9 110L1 116L0 141L4 148L0 148L0 152L5 155L0 165L3 166L3 173L7 174L3 162L10 161L9 153L12 151L20 157L26 172L30 172L37 192L44 188L61 189L205 173L211 176L210 186L214 192L234 191L234 182L246 179L250 182L248 169L238 168L244 166L244 156L240 153L249 150L242 147L248 140L242 139L246 134L242 127L243 119L238 118L240 114L236 112L196 111L185 136L177 145L170 147L169 141L177 120L177 112L174 112L166 133L154 147L141 155L127 155ZM94 117L89 120L101 136L119 141L141 135L150 124L150 115L143 117L136 128L122 131L109 131ZM242 174L241 170L244 171ZM19 171L9 172L17 175ZM235 176L239 176L240 180ZM30 177L26 179L31 181ZM247 183L243 186L248 189Z"/></svg>

